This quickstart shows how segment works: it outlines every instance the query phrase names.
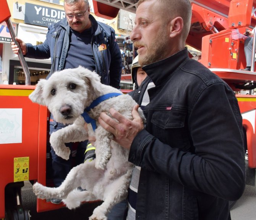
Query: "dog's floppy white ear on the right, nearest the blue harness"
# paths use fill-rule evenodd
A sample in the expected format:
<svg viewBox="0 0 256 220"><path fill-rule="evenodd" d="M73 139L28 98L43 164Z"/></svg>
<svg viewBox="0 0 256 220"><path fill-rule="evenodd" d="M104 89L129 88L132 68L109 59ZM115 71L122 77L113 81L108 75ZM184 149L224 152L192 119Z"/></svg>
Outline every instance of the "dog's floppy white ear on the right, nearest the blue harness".
<svg viewBox="0 0 256 220"><path fill-rule="evenodd" d="M89 69L86 69L82 66L78 67L79 72L82 74L82 78L89 84L91 84L92 90L95 93L100 92L99 84L100 84L100 76L96 72L92 72Z"/></svg>

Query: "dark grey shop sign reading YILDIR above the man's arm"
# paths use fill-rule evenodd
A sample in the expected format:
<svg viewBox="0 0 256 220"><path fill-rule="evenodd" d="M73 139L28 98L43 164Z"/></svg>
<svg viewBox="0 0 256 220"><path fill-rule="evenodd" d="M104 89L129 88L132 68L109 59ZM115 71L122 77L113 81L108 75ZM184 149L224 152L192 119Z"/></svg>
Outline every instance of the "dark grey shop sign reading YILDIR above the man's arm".
<svg viewBox="0 0 256 220"><path fill-rule="evenodd" d="M65 11L31 3L25 4L25 24L48 27L65 18Z"/></svg>

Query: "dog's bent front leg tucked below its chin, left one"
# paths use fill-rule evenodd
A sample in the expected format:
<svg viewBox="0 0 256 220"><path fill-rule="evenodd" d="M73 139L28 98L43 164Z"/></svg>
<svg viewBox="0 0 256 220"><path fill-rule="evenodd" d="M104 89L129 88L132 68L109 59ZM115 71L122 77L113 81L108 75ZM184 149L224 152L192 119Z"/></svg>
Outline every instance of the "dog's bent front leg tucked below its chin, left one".
<svg viewBox="0 0 256 220"><path fill-rule="evenodd" d="M72 125L68 125L50 136L50 144L55 153L65 160L69 159L70 148L65 143L88 140L88 134L84 129L83 118L77 119Z"/></svg>

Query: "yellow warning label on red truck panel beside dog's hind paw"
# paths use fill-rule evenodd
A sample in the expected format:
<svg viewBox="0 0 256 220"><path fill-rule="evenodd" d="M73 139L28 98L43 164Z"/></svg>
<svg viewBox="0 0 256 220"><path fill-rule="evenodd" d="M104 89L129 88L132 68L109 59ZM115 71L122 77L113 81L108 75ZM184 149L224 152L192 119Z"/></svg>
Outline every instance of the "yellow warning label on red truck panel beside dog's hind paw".
<svg viewBox="0 0 256 220"><path fill-rule="evenodd" d="M14 182L29 180L29 157L14 157Z"/></svg>

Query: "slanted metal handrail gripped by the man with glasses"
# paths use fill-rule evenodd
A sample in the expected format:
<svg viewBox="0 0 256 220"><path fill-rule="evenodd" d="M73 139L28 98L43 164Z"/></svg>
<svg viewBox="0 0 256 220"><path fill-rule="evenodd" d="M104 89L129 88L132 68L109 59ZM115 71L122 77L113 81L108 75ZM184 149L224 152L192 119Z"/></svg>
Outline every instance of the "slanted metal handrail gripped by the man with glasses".
<svg viewBox="0 0 256 220"><path fill-rule="evenodd" d="M25 85L30 85L30 72L29 72L29 69L28 69L28 65L25 61L25 58L22 54L22 51L21 51L21 47L19 45L19 43L17 42L17 40L15 39L16 37L16 34L15 34L15 31L14 31L14 28L13 28L13 24L11 23L11 19L7 19L6 20L6 24L7 24L7 27L10 31L10 34L11 34L11 39L13 40L13 42L18 46L19 48L19 51L18 51L18 57L19 57L19 61L21 62L21 66L23 68L23 71L25 73Z"/></svg>

